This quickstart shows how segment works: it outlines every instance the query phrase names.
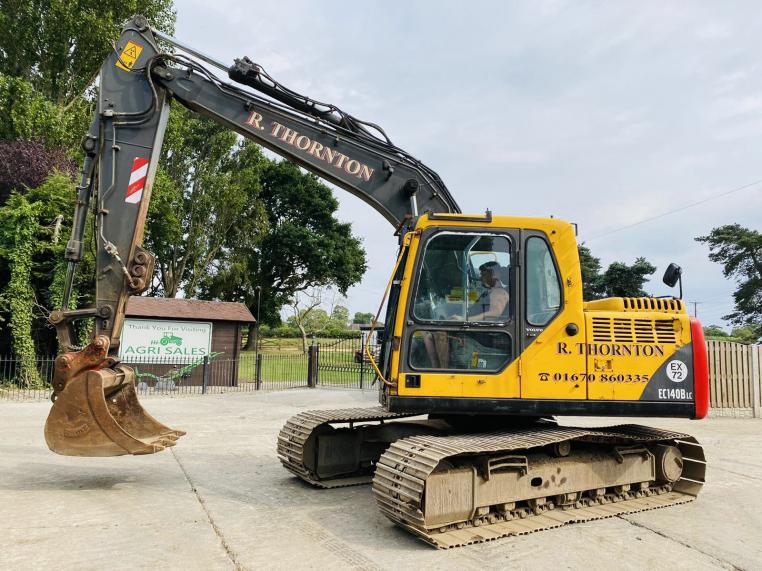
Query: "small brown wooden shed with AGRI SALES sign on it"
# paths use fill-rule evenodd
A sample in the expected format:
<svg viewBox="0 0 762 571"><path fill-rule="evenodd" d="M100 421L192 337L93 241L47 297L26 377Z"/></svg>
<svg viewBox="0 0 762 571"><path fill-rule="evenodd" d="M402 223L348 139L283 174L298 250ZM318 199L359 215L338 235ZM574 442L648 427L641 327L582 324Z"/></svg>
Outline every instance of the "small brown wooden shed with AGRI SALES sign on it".
<svg viewBox="0 0 762 571"><path fill-rule="evenodd" d="M236 386L241 335L254 321L242 303L131 297L119 356L149 386L201 385L205 358L209 385Z"/></svg>

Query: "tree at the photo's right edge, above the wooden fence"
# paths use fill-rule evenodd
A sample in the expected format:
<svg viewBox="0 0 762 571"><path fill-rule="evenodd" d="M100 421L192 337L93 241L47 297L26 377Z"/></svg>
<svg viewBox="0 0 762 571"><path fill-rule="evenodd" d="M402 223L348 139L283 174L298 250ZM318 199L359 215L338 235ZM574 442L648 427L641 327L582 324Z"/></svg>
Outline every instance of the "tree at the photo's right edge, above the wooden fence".
<svg viewBox="0 0 762 571"><path fill-rule="evenodd" d="M751 326L762 334L762 233L728 224L696 238L709 246L709 259L722 264L726 278L735 278L735 310L723 317L736 325Z"/></svg>

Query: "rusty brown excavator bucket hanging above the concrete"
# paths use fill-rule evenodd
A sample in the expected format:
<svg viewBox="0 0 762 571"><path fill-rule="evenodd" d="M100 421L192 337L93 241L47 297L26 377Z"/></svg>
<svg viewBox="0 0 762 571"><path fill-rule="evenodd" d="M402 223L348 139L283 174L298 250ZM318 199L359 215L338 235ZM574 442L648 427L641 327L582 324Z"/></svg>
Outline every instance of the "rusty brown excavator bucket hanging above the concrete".
<svg viewBox="0 0 762 571"><path fill-rule="evenodd" d="M138 401L135 373L107 357L108 338L97 337L56 359L53 408L45 441L65 456L153 454L174 446L185 432L148 414Z"/></svg>

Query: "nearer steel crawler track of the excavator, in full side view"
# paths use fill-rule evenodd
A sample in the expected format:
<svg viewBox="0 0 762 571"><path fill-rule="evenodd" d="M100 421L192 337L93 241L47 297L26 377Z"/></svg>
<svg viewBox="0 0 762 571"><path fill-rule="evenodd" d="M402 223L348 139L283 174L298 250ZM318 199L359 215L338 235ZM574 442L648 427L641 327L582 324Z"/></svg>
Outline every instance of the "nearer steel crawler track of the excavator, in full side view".
<svg viewBox="0 0 762 571"><path fill-rule="evenodd" d="M654 458L659 456L660 450L668 450L668 461L663 465L667 466L667 473L673 470L674 481L665 483L662 469L662 482L644 477L634 485L605 486L596 490L582 487L554 496L553 487L559 485L555 471L560 476L562 466L571 469L575 466L573 455L567 457L571 462L564 464L566 459L553 458L550 453L546 455L545 464L538 460L540 467L550 467L554 472L549 478L553 480L552 485L551 482L545 484L550 486L548 497L528 501L514 501L514 497L509 498L510 502L496 505L478 504L477 492L489 491L490 470L493 483L501 477L504 482L509 478L526 480L535 473L526 458L540 458L547 450L560 451L563 455L563 452L569 454L570 449L580 448L588 450L582 453L585 458L602 463L600 466L606 462L613 465L613 473L625 469L642 471L644 466L648 470L650 461L651 472L658 474L658 468L653 467ZM651 453L653 450L657 450L656 455ZM612 452L619 457L612 460ZM584 468L584 463L578 462L576 467L580 466ZM678 466L677 472L674 472L675 466ZM703 449L687 434L639 425L569 428L548 424L510 433L424 435L399 440L379 459L373 492L379 508L389 519L427 543L446 549L690 502L700 491L705 472ZM455 483L458 478L466 484L460 489ZM532 482L538 478L532 478ZM471 481L473 486L469 487ZM499 488L493 486L492 489ZM560 505L554 505L553 500ZM460 518L442 515L448 510L457 511L453 507L456 504L470 505L473 509ZM432 516L427 508L429 512L439 509L440 513Z"/></svg>

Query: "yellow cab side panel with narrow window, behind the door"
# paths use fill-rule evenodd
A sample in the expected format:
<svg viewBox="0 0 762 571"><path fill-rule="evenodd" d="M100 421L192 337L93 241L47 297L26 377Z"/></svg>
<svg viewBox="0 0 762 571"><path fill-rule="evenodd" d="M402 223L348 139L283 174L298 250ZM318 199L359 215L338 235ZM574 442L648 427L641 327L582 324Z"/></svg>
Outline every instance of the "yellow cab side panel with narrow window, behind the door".
<svg viewBox="0 0 762 571"><path fill-rule="evenodd" d="M565 288L572 281L559 270L555 255L559 243L542 232L522 232L519 375L523 399L587 398L584 316L580 304L568 303Z"/></svg>

